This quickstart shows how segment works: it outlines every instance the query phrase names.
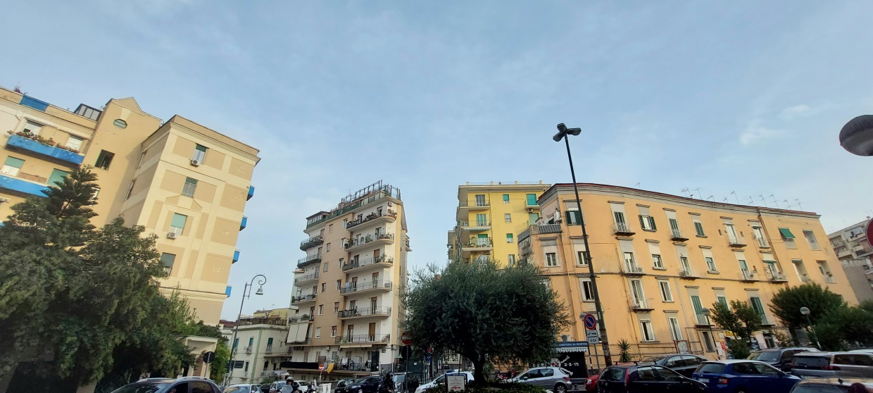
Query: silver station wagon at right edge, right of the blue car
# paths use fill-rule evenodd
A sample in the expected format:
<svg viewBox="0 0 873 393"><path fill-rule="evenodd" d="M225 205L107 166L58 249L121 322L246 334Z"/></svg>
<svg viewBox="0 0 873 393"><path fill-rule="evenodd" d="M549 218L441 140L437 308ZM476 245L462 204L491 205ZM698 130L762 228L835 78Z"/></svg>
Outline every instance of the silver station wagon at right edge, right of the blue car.
<svg viewBox="0 0 873 393"><path fill-rule="evenodd" d="M857 376L873 378L873 354L865 352L808 352L794 355L791 373L802 378Z"/></svg>

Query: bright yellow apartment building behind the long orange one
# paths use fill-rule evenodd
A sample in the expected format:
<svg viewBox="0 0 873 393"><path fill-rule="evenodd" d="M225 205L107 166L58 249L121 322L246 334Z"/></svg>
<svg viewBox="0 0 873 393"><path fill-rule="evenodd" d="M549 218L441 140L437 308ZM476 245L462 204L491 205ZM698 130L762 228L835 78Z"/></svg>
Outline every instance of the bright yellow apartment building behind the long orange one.
<svg viewBox="0 0 873 393"><path fill-rule="evenodd" d="M549 184L470 183L457 187L455 227L449 231L449 259L470 262L518 259L516 235L540 219L537 199Z"/></svg>

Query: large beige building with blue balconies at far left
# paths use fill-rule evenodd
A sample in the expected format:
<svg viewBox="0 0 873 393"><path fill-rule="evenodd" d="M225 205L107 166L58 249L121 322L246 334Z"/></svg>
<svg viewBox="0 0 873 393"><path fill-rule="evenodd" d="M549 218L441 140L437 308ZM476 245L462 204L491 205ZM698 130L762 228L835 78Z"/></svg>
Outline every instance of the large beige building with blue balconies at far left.
<svg viewBox="0 0 873 393"><path fill-rule="evenodd" d="M91 165L100 186L92 223L123 217L156 234L163 291L180 291L200 319L218 323L258 149L179 115L161 121L133 98L70 112L5 89L0 131L0 217Z"/></svg>

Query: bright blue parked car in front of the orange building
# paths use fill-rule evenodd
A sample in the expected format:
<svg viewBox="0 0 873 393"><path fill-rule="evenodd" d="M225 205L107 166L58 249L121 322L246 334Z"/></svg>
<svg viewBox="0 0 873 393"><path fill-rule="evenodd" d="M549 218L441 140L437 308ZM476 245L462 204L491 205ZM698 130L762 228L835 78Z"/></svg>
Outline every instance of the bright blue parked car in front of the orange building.
<svg viewBox="0 0 873 393"><path fill-rule="evenodd" d="M746 359L700 363L691 378L711 393L788 393L801 378Z"/></svg>

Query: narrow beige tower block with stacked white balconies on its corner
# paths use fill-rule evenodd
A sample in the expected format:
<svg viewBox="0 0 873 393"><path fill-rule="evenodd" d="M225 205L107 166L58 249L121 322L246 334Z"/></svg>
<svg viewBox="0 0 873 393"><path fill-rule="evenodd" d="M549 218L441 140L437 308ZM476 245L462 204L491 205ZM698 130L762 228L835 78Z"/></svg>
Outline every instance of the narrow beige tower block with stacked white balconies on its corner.
<svg viewBox="0 0 873 393"><path fill-rule="evenodd" d="M299 312L286 340L292 360L282 369L309 379L319 365L334 376L391 367L411 251L400 189L371 184L307 217L304 232L292 296Z"/></svg>

